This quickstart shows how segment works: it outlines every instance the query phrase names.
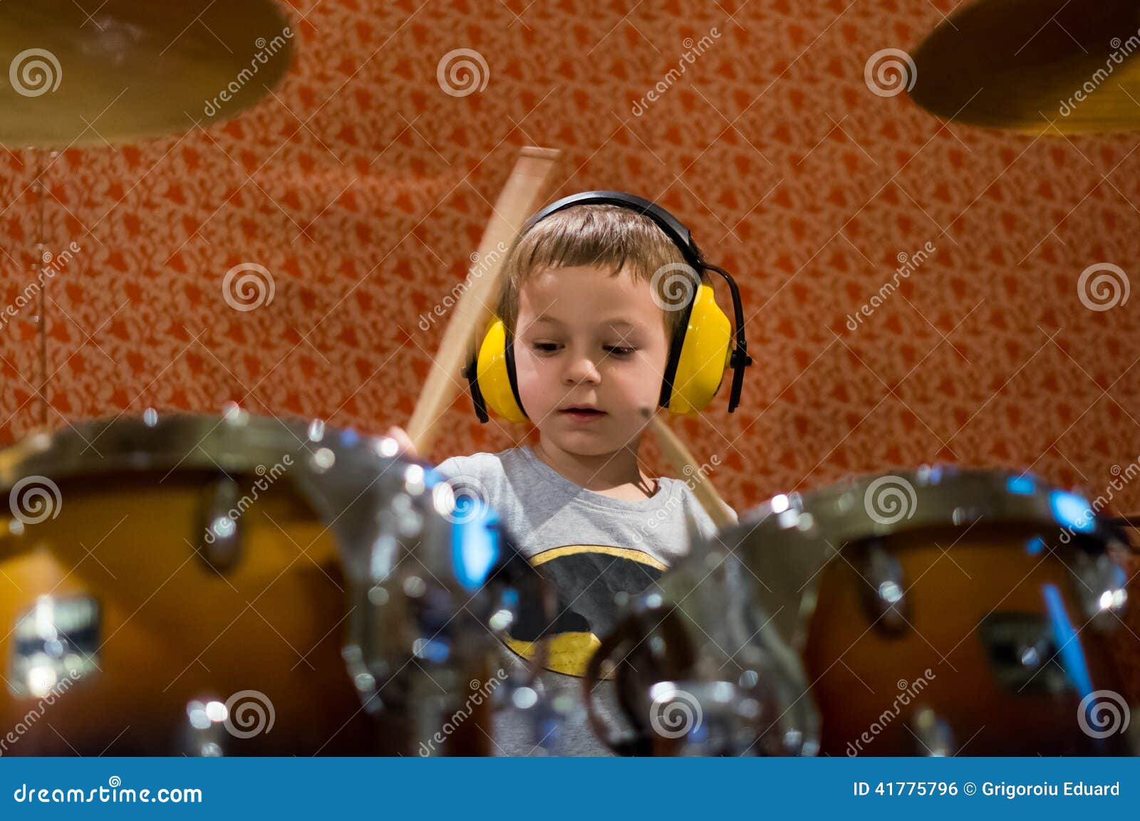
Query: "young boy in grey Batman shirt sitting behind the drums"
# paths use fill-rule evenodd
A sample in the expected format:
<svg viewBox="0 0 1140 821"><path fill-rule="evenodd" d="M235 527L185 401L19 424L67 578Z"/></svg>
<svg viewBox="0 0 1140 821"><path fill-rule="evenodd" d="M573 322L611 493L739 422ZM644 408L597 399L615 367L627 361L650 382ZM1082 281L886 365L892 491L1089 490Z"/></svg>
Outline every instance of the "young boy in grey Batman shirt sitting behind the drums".
<svg viewBox="0 0 1140 821"><path fill-rule="evenodd" d="M523 233L505 261L497 315L514 340L519 397L538 443L437 468L498 512L557 591L555 623L513 625L503 656L506 670L519 670L534 642L546 642L542 696L579 705L544 741L561 755L608 754L581 717L581 676L620 604L684 556L692 534L716 533L685 482L650 477L637 458L642 409L657 410L684 319L653 274L683 262L652 220L614 205L576 205ZM389 435L415 455L402 429ZM595 700L613 724L612 682ZM516 715L496 716L498 754L530 755L540 740Z"/></svg>

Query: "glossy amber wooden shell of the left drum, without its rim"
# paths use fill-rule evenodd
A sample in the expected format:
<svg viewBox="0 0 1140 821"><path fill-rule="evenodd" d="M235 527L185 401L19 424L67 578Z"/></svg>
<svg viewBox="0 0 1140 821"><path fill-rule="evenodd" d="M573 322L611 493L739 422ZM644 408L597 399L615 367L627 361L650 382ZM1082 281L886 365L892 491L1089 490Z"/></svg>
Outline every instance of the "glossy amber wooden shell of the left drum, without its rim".
<svg viewBox="0 0 1140 821"><path fill-rule="evenodd" d="M227 753L383 752L388 733L360 709L341 659L345 582L332 533L279 482L237 520L241 555L219 570L202 552L202 499L217 481L195 470L63 479L56 516L0 542L9 671L11 631L36 597L99 608L99 670L50 706L0 691L0 726L25 726L6 754L180 754L189 701L247 690L274 722L225 736ZM235 481L249 496L256 477Z"/></svg>

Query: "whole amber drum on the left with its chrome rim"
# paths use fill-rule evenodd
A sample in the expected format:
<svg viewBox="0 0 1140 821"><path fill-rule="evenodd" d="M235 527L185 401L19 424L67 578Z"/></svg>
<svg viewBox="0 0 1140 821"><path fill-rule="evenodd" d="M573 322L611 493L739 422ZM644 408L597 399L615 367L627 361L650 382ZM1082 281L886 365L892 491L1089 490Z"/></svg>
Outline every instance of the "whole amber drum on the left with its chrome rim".
<svg viewBox="0 0 1140 821"><path fill-rule="evenodd" d="M500 545L394 454L236 407L0 452L0 754L415 754L487 678Z"/></svg>

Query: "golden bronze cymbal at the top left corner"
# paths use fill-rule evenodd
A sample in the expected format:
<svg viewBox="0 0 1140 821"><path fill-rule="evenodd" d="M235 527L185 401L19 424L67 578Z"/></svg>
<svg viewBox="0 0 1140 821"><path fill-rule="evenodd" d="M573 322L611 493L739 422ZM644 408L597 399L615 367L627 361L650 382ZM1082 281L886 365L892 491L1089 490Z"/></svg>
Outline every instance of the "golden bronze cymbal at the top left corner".
<svg viewBox="0 0 1140 821"><path fill-rule="evenodd" d="M274 0L5 0L0 142L116 145L228 120L280 82L294 34Z"/></svg>

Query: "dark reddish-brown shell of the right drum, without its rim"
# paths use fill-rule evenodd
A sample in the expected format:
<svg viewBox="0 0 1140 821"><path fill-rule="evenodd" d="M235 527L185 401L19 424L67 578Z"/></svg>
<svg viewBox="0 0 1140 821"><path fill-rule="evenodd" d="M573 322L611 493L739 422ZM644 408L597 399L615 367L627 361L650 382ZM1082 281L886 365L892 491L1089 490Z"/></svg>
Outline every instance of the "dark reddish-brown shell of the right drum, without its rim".
<svg viewBox="0 0 1140 821"><path fill-rule="evenodd" d="M1077 631L1093 689L1123 691L1109 637L1090 624L1076 588L1082 582L1072 568L1082 548L1057 544L1056 536L1032 525L982 523L877 540L901 565L907 623L898 630L869 607L873 597L860 572L866 545L844 545L842 558L820 574L804 649L823 716L821 753L925 754L909 724L922 707L948 725L955 749L970 755L1127 752L1122 734L1098 739L1078 729L1082 697L1074 688L1049 691L1047 676L1034 680L1032 671L1003 683L995 670L983 623L1026 617L1048 624L1049 585ZM1037 539L1051 539L1056 553L1031 552Z"/></svg>

